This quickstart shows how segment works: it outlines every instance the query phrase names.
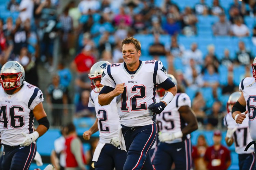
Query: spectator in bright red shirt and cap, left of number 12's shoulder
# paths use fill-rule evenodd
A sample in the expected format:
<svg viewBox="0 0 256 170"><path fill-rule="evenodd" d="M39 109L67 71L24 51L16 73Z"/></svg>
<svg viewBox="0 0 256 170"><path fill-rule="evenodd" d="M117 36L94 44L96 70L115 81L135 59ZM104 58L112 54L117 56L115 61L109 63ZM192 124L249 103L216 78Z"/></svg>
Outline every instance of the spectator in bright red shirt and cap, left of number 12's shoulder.
<svg viewBox="0 0 256 170"><path fill-rule="evenodd" d="M95 63L94 56L91 55L91 45L86 45L71 63L71 68L77 73L88 73Z"/></svg>

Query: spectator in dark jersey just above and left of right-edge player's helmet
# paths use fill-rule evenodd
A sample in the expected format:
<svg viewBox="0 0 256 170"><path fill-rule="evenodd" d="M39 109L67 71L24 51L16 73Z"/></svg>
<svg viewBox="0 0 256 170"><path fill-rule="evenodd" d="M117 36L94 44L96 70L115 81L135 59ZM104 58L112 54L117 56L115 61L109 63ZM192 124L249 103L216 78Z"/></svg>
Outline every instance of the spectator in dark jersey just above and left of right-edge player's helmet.
<svg viewBox="0 0 256 170"><path fill-rule="evenodd" d="M245 48L244 42L240 41L238 47L239 51L236 53L236 62L240 65L250 64L254 57L251 55L251 52Z"/></svg>

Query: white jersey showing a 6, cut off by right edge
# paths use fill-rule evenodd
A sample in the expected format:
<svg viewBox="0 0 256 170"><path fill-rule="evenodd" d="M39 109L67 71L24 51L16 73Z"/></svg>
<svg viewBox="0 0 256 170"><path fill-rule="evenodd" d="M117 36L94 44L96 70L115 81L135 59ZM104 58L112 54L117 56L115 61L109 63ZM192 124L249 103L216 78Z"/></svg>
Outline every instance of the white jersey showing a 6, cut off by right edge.
<svg viewBox="0 0 256 170"><path fill-rule="evenodd" d="M243 79L239 84L239 90L243 92L246 101L246 117L249 118L249 132L253 141L256 141L256 83L253 77Z"/></svg>

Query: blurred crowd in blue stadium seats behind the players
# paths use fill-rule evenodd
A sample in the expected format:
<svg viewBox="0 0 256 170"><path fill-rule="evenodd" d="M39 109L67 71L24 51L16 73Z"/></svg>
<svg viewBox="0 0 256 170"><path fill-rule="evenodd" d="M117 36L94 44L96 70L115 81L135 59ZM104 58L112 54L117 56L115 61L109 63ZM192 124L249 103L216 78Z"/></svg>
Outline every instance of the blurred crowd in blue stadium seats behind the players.
<svg viewBox="0 0 256 170"><path fill-rule="evenodd" d="M222 129L229 95L252 77L255 14L255 0L0 0L0 67L24 66L51 127L89 128L90 67L123 62L134 36L141 60L160 60L189 95L199 129Z"/></svg>

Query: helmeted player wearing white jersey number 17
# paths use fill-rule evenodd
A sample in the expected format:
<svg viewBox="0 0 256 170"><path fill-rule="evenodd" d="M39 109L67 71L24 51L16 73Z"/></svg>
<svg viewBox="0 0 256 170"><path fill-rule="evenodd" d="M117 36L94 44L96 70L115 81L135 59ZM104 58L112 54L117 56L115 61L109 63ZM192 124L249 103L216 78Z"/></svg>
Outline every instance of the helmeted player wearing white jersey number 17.
<svg viewBox="0 0 256 170"><path fill-rule="evenodd" d="M227 102L228 113L224 117L224 125L228 128L225 140L227 146L231 146L234 142L235 150L238 154L239 169L252 169L255 166L254 146L251 146L247 151L244 151L248 143L252 141L252 138L249 135L248 116L245 117L242 124L237 124L231 115L232 107L240 96L241 92L239 91L233 92L229 96Z"/></svg>

